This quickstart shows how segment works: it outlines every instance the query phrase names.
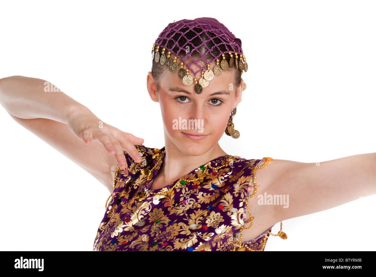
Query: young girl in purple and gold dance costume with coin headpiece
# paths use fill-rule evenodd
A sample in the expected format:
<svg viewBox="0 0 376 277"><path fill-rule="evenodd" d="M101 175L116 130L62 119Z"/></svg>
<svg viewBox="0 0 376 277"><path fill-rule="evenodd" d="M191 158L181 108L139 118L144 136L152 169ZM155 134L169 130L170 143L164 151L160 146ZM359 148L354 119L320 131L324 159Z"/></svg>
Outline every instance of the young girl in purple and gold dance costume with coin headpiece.
<svg viewBox="0 0 376 277"><path fill-rule="evenodd" d="M248 66L241 40L215 18L170 23L151 46L147 89L161 107L161 149L100 121L62 92L38 97L45 80L0 80L2 106L12 118L43 139L45 129L58 132L59 122L67 124L70 135L48 139L62 140L62 153L109 189L94 251L264 251L271 235L287 239L282 220L376 193L376 153L317 166L224 152L218 144L223 133L240 136L232 119ZM21 112L22 105L6 97L15 93L23 103L38 105ZM35 115L41 118L27 119ZM100 144L73 155L80 140ZM348 194L355 181L357 190ZM267 205L260 203L264 195ZM277 222L280 231L271 234Z"/></svg>

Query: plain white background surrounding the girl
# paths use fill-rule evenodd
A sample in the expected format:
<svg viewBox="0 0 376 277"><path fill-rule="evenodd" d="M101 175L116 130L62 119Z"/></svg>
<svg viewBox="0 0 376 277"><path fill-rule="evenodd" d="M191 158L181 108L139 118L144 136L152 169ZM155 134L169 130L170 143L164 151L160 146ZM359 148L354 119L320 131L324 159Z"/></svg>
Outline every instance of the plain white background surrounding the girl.
<svg viewBox="0 0 376 277"><path fill-rule="evenodd" d="M162 148L159 104L146 89L152 45L170 22L215 17L242 40L249 64L234 116L241 135L223 135L225 152L299 162L376 152L374 1L169 4L2 1L0 78L50 81L104 122ZM91 251L108 190L3 108L0 118L0 250ZM375 201L285 220L288 239L270 237L265 250L374 250Z"/></svg>

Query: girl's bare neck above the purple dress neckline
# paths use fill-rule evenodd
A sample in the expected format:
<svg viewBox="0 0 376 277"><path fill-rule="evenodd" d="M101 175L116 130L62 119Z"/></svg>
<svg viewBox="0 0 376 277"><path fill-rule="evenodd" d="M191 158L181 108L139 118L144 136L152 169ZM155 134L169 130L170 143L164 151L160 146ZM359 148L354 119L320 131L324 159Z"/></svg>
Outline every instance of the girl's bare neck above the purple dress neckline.
<svg viewBox="0 0 376 277"><path fill-rule="evenodd" d="M158 173L158 175L163 177L163 182L170 184L174 180L190 173L194 168L212 159L228 155L219 146L218 142L208 152L201 155L195 155L194 147L190 148L190 152L192 153L186 154L180 151L165 134L165 157Z"/></svg>

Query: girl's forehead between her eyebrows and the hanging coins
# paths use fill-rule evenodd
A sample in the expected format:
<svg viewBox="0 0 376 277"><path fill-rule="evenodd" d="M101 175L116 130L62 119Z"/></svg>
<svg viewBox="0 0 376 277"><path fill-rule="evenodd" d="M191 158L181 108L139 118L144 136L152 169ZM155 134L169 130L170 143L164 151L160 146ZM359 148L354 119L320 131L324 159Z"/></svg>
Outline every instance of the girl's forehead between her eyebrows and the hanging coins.
<svg viewBox="0 0 376 277"><path fill-rule="evenodd" d="M188 63L188 64L191 63L191 61L188 60L188 59L185 62ZM180 69L180 60L177 59L176 63L178 64L179 69ZM204 69L200 70L201 68L194 63L190 65L190 67L194 70L194 72L197 72L196 73L197 83L202 78L201 77L202 72L205 72L206 70L208 70L208 67L206 66L205 62L200 61L199 65L204 67ZM215 65L216 65L216 61L214 60L210 63L210 70L213 71L213 68L214 68ZM183 65L183 69L186 69L185 65ZM189 74L193 78L195 78L192 70L189 70ZM207 87L204 87L202 89L201 94L203 94L205 92L211 93L214 90L224 90L224 89L229 90L230 84L232 84L235 87L234 81L235 81L235 77L234 77L234 70L233 69L222 70L221 75L217 76L217 75L214 74L213 79L209 81L209 85ZM162 87L164 87L166 90L168 90L170 87L179 86L179 87L182 87L183 89L185 89L185 90L187 90L191 93L194 93L194 84L195 84L194 81L193 81L193 84L191 84L190 86L185 86L185 84L183 84L182 79L180 79L179 76L177 75L177 71L173 73L170 70L168 70L167 68L165 68L165 76L164 76L164 78L162 78L161 84L162 84ZM194 93L194 94L196 94L196 93Z"/></svg>

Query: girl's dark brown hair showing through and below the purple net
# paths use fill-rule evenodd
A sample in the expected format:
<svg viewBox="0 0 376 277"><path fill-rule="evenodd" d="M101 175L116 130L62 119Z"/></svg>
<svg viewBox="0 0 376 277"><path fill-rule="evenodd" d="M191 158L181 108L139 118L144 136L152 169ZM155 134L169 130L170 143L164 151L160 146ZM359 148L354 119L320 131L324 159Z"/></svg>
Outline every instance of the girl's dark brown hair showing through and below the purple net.
<svg viewBox="0 0 376 277"><path fill-rule="evenodd" d="M193 29L197 33L202 32L202 29L199 28L199 27L195 27ZM181 28L179 30L179 32L182 32L184 34L187 30L188 30L188 27L183 27L183 28ZM208 35L211 38L213 38L213 41L216 44L220 44L221 43L221 40L219 38L217 38L215 34L213 34L212 32L207 32L207 33L208 33ZM170 37L173 34L174 34L174 32L170 32L167 35L167 37ZM186 40L185 39L179 39L179 37L180 37L180 34L178 32L176 32L174 34L174 36L172 37L172 40L168 41L166 48L167 49L171 49L171 47L173 47L173 45L174 45L174 41L177 41L177 43L178 43L178 45L176 45L172 49L172 51L174 51L174 52L179 51L179 47L185 46L186 45ZM195 32L193 32L193 31L190 30L190 31L188 31L188 32L185 33L185 37L195 47L199 46L199 48L197 48L197 51L199 51L199 52L197 52L195 50L195 51L193 51L191 53L191 57L194 58L196 61L201 58L201 55L204 55L206 60L211 61L211 60L214 59L213 55L218 56L218 55L221 54L220 50L217 47L213 47L214 46L213 42L206 36L205 32L202 32L200 34L200 37L199 37L199 36L197 36L197 34ZM203 41L205 41L205 43L203 43ZM221 49L222 52L226 51L226 47L224 47L223 44L219 45L218 47L222 48ZM213 53L213 55L211 55L208 52L208 49L211 49L211 48L213 48L211 50L211 52ZM229 50L231 52L235 52L235 51L233 51L233 49L231 49L232 48L231 46L229 46L229 48L230 48ZM182 60L186 57L186 52L183 51L183 50L180 51L178 54L179 54L179 57ZM228 53L226 53L226 54L224 54L224 56L225 56L225 59L226 59L227 63L229 63L229 61L230 61L230 55ZM221 61L222 60L222 56L218 57L218 59L220 59L220 61ZM163 77L163 75L165 74L166 70L168 70L168 69L167 69L167 67L164 64L161 64L159 62L157 63L155 61L155 59L153 59L152 76L153 76L154 80L156 81L156 90L157 91L159 90L160 80ZM242 75L241 70L238 69L236 66L234 66L234 67L228 67L228 69L226 70L226 72L229 72L228 70L235 70L235 86L239 87L240 84L241 84L241 75ZM236 95L237 95L237 90L235 90L235 96Z"/></svg>

